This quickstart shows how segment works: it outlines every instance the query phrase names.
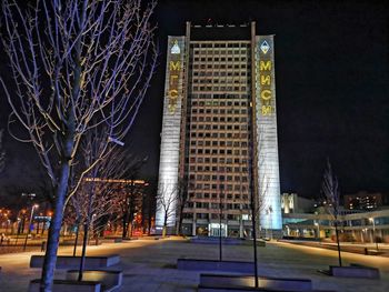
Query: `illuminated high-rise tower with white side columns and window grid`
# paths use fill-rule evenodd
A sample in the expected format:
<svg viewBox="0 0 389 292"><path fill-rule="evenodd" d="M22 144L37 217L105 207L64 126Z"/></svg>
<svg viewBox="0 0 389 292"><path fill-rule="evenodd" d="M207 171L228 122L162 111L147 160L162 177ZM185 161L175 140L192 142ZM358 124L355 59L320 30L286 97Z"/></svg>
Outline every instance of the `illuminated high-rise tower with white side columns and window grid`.
<svg viewBox="0 0 389 292"><path fill-rule="evenodd" d="M249 236L282 229L273 36L250 26L192 26L169 37L156 229ZM182 188L183 187L183 188ZM278 232L277 232L278 231Z"/></svg>

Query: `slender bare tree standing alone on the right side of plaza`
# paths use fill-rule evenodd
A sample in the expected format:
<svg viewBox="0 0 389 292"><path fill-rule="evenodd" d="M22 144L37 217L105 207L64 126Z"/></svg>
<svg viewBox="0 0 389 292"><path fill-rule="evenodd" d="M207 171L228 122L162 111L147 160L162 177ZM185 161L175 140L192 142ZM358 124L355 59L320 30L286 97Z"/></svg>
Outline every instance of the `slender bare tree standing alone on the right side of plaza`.
<svg viewBox="0 0 389 292"><path fill-rule="evenodd" d="M325 195L325 208L326 211L331 215L333 225L335 225L335 233L337 238L337 245L338 245L338 259L339 259L339 265L341 266L341 254L340 254L340 243L339 243L339 203L340 203L340 193L338 189L338 179L332 172L331 163L329 159L327 159L327 165L323 174L322 180L322 193Z"/></svg>

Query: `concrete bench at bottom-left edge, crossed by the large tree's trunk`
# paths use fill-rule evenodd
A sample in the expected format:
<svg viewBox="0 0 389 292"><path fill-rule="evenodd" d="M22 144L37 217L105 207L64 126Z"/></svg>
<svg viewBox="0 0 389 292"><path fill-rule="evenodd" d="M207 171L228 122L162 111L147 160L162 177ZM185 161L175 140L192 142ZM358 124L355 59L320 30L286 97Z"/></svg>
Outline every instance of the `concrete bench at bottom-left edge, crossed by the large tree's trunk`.
<svg viewBox="0 0 389 292"><path fill-rule="evenodd" d="M28 292L40 291L40 279L30 281ZM101 283L93 281L70 281L70 280L54 280L52 291L56 292L100 292Z"/></svg>

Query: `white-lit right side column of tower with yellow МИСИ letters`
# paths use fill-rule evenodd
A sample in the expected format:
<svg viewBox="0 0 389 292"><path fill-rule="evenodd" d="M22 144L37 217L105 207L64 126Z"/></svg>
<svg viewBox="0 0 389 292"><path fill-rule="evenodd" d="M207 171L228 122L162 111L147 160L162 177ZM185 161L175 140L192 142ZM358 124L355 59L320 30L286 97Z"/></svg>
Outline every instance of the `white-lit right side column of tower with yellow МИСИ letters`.
<svg viewBox="0 0 389 292"><path fill-rule="evenodd" d="M273 36L256 37L256 123L260 225L281 230Z"/></svg>

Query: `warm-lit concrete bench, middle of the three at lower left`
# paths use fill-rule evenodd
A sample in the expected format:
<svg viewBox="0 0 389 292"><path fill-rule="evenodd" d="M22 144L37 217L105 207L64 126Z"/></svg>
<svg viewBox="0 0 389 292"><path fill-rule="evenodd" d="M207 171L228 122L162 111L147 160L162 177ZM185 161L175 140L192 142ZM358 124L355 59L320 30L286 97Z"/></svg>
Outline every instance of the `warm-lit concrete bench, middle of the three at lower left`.
<svg viewBox="0 0 389 292"><path fill-rule="evenodd" d="M67 271L66 280L78 279L78 270ZM99 270L86 270L82 274L82 281L93 281L100 282L101 289L104 292L113 291L114 289L121 286L123 279L122 271L99 271Z"/></svg>

